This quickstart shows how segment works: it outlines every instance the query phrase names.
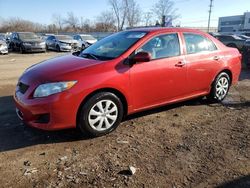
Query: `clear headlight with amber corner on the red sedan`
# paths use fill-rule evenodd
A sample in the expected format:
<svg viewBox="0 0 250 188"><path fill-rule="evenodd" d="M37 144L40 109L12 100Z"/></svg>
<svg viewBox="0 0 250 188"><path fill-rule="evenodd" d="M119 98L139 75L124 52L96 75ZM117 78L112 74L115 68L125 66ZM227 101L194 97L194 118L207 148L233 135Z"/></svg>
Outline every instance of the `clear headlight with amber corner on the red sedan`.
<svg viewBox="0 0 250 188"><path fill-rule="evenodd" d="M33 97L47 97L52 94L60 93L73 87L76 82L77 81L67 81L41 84L36 88Z"/></svg>

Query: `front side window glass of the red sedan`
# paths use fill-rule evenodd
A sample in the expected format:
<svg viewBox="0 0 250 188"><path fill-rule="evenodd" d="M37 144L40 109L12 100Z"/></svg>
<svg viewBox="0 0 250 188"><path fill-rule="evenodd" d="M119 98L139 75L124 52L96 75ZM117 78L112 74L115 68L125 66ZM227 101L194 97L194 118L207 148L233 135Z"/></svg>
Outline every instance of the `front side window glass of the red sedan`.
<svg viewBox="0 0 250 188"><path fill-rule="evenodd" d="M136 53L142 51L150 53L152 60L179 56L180 44L178 35L174 33L154 37L139 48Z"/></svg>

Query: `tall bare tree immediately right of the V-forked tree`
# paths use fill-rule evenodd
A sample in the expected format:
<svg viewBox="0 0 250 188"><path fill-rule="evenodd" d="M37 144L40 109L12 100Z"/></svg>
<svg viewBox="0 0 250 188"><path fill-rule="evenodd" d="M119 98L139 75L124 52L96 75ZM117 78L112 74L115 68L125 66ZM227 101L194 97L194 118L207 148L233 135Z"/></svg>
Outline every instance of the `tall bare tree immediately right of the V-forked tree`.
<svg viewBox="0 0 250 188"><path fill-rule="evenodd" d="M127 0L127 22L129 27L138 25L141 20L141 10L135 0Z"/></svg>

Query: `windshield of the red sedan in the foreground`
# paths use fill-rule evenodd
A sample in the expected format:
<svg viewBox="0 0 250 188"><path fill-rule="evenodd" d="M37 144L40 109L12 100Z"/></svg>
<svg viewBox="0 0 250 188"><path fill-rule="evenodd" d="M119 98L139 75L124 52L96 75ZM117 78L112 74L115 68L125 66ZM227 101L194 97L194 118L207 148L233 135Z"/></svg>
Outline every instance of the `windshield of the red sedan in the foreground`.
<svg viewBox="0 0 250 188"><path fill-rule="evenodd" d="M96 57L99 60L110 60L126 52L147 32L123 31L106 37L81 52L81 57Z"/></svg>

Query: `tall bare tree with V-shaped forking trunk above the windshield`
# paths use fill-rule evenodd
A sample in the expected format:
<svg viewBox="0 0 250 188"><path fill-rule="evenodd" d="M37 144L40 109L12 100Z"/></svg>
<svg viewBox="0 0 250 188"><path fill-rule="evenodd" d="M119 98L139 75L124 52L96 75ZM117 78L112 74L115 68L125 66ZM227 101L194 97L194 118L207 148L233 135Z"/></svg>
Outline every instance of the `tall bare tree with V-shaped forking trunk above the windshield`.
<svg viewBox="0 0 250 188"><path fill-rule="evenodd" d="M128 0L109 0L108 2L116 18L117 31L121 31L127 18Z"/></svg>

